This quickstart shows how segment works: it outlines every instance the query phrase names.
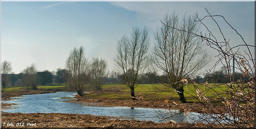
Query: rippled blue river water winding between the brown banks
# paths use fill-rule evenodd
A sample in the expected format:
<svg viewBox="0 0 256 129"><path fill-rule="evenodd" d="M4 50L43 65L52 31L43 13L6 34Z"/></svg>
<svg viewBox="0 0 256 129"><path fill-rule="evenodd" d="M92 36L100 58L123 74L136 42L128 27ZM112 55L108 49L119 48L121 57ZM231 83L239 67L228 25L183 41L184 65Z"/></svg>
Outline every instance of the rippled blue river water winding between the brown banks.
<svg viewBox="0 0 256 129"><path fill-rule="evenodd" d="M157 112L159 111L153 108L90 107L85 106L82 103L63 102L67 100L66 98L72 99L73 95L76 95L76 92L24 95L24 97L16 97L11 101L4 101L6 103L16 103L18 108L3 111L20 113L78 113L97 116L126 117L128 120L134 118L135 120L160 121L159 118L157 118ZM166 113L166 117L170 116L170 112L168 110L161 112ZM173 110L173 113L174 112L177 113L178 111ZM196 113L191 113L190 117L193 118L194 115L196 115ZM183 113L174 116L172 120L176 122L188 122L188 118Z"/></svg>

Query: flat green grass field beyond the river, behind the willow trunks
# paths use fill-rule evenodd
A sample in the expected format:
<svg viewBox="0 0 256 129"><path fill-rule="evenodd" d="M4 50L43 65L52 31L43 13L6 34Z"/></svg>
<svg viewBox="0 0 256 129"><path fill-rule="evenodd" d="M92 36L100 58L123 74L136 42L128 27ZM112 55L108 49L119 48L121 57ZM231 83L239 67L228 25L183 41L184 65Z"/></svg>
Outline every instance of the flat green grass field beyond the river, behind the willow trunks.
<svg viewBox="0 0 256 129"><path fill-rule="evenodd" d="M213 94L208 87L203 85L196 85L204 93L204 89L206 92L206 96L210 96ZM224 85L214 86L210 84L209 87L212 87L216 92L221 93L226 89ZM5 89L2 87L2 92L19 92L26 90L24 87L11 87L7 86ZM46 90L46 91L65 91L65 85L57 85L52 84L49 86L38 86L38 91ZM196 95L195 87L192 84L188 84L188 86L184 86L184 96L187 101L197 102L197 100L192 97ZM192 96L191 96L192 95ZM88 97L99 97L99 98L115 98L115 99L130 99L130 89L125 85L120 84L106 84L102 85L102 92L89 92L87 93ZM163 101L166 99L179 101L179 95L174 91L173 88L169 88L163 86L161 84L138 84L135 85L135 96L142 96L144 100L159 100Z"/></svg>

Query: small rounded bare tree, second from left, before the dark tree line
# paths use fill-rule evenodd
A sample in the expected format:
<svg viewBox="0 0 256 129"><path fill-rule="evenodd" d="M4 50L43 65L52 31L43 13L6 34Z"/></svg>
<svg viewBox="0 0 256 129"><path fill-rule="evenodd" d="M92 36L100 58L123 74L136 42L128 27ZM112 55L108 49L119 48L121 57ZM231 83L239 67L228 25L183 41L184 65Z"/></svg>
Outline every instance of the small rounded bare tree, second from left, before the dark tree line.
<svg viewBox="0 0 256 129"><path fill-rule="evenodd" d="M32 63L30 67L27 67L23 70L23 73L23 85L26 86L27 89L31 87L33 90L37 90L37 86L39 85L40 80L36 74L36 65Z"/></svg>

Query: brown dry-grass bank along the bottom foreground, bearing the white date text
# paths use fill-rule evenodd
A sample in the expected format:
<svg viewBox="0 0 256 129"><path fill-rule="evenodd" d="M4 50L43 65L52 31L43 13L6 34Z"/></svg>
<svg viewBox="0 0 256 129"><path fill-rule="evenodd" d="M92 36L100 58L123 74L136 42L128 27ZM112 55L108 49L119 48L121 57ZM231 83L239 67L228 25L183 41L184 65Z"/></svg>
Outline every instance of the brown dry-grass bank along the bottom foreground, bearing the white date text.
<svg viewBox="0 0 256 129"><path fill-rule="evenodd" d="M4 128L195 128L206 126L203 123L154 123L81 114L2 112Z"/></svg>

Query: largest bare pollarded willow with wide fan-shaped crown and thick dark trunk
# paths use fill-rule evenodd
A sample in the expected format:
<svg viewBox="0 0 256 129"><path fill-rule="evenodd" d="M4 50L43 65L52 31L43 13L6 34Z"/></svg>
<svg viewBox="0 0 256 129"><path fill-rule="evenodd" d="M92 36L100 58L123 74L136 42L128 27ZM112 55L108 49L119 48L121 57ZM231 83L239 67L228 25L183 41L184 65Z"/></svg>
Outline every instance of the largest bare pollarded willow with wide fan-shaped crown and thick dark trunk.
<svg viewBox="0 0 256 129"><path fill-rule="evenodd" d="M168 80L161 80L161 83L174 88L183 103L187 101L182 81L196 76L210 61L201 39L191 34L200 28L195 19L196 15L184 15L180 19L178 14L166 14L162 26L157 29L152 49L153 70L160 70L167 76Z"/></svg>

